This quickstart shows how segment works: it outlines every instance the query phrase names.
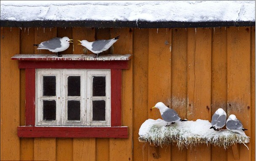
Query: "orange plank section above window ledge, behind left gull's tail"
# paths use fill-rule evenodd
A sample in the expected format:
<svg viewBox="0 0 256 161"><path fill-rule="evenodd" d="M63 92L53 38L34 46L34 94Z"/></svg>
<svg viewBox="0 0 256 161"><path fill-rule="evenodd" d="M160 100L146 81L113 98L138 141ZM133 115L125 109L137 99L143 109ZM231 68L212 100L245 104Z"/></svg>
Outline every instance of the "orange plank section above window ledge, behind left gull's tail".
<svg viewBox="0 0 256 161"><path fill-rule="evenodd" d="M57 28L43 28L43 27L36 27L35 28L35 42L34 44L40 44L43 41L50 40L54 37L57 37ZM33 46L33 44L31 44ZM54 54L49 50L38 50L37 46L33 46L35 54Z"/></svg>

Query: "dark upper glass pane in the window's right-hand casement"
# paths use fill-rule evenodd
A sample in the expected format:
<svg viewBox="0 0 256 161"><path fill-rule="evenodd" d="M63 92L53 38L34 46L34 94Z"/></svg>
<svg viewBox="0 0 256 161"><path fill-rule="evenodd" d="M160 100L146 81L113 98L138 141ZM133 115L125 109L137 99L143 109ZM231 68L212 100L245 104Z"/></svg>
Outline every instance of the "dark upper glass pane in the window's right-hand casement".
<svg viewBox="0 0 256 161"><path fill-rule="evenodd" d="M106 77L93 77L92 96L106 95Z"/></svg>

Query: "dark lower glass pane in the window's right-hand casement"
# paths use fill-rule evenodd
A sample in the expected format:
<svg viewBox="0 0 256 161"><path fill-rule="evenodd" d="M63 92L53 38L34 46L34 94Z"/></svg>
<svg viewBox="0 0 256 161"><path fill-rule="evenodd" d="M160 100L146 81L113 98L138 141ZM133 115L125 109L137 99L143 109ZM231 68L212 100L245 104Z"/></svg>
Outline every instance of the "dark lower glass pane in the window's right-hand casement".
<svg viewBox="0 0 256 161"><path fill-rule="evenodd" d="M93 121L105 121L105 100L93 100L92 101L92 120Z"/></svg>

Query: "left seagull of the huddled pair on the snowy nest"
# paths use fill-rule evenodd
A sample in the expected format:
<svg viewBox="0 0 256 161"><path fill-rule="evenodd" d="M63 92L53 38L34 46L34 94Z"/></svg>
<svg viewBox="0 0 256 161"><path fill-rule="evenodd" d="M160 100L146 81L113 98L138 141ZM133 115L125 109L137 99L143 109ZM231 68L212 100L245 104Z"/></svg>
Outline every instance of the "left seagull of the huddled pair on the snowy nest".
<svg viewBox="0 0 256 161"><path fill-rule="evenodd" d="M222 109L219 108L212 116L212 127L210 129L214 129L215 131L219 131L222 127L225 126L226 124L226 112Z"/></svg>

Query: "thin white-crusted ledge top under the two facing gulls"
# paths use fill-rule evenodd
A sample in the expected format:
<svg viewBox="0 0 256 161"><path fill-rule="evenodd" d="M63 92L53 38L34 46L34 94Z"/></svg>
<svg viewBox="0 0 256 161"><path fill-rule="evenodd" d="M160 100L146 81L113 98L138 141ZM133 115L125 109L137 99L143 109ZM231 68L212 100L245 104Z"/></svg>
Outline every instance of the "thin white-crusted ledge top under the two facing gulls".
<svg viewBox="0 0 256 161"><path fill-rule="evenodd" d="M98 58L95 54L62 54L62 57L57 57L56 54L16 54L11 59L19 61L128 61L131 57L131 54L99 55Z"/></svg>

